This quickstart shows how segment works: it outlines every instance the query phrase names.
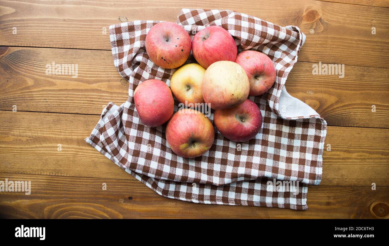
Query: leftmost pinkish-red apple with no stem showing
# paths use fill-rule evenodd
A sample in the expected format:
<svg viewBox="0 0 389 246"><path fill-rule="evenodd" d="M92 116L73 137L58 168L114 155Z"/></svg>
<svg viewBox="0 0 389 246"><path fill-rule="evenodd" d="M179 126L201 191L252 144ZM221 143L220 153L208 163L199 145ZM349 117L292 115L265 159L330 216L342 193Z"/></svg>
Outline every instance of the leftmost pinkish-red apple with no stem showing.
<svg viewBox="0 0 389 246"><path fill-rule="evenodd" d="M174 110L172 91L158 79L140 83L134 91L135 108L139 119L149 127L158 127L168 121Z"/></svg>

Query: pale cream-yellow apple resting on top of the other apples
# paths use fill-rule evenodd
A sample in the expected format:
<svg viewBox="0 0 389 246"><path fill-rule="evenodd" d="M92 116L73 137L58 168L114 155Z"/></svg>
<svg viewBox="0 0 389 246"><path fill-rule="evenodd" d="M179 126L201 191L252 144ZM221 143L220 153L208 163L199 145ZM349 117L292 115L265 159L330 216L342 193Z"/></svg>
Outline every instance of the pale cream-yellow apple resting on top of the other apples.
<svg viewBox="0 0 389 246"><path fill-rule="evenodd" d="M235 62L212 63L203 78L203 98L212 109L225 109L243 103L250 91L245 70Z"/></svg>

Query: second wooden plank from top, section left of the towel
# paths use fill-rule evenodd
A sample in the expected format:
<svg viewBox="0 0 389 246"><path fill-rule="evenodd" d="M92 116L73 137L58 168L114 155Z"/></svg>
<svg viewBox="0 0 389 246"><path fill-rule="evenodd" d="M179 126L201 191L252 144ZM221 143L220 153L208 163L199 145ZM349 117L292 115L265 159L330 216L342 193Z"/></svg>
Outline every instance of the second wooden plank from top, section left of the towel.
<svg viewBox="0 0 389 246"><path fill-rule="evenodd" d="M77 77L46 75L53 62L77 65ZM108 102L128 98L110 51L0 47L0 64L1 109L100 114Z"/></svg>

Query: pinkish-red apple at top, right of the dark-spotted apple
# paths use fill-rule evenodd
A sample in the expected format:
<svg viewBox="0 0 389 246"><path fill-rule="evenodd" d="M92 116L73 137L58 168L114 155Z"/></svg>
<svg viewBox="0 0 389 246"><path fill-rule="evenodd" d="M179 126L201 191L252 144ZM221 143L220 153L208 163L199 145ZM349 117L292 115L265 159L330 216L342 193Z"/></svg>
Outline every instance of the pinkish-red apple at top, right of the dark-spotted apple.
<svg viewBox="0 0 389 246"><path fill-rule="evenodd" d="M192 52L196 61L207 69L214 62L235 62L238 49L234 38L226 29L209 26L193 37Z"/></svg>

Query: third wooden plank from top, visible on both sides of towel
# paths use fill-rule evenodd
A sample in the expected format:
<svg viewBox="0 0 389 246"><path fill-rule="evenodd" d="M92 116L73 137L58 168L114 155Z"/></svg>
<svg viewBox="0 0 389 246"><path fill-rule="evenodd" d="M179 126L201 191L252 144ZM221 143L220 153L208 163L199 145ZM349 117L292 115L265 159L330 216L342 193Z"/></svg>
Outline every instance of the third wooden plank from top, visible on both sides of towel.
<svg viewBox="0 0 389 246"><path fill-rule="evenodd" d="M0 172L129 179L84 141L98 119L0 111ZM389 186L388 137L385 128L328 127L321 185Z"/></svg>

